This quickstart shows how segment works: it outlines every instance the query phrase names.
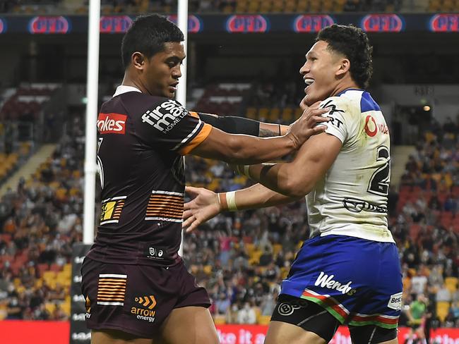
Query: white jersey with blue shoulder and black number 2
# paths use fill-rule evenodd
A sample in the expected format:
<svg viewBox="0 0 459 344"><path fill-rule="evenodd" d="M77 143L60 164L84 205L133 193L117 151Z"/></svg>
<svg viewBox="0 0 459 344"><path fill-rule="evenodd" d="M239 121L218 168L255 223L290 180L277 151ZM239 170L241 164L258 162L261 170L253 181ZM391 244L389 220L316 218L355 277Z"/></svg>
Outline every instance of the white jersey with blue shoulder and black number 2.
<svg viewBox="0 0 459 344"><path fill-rule="evenodd" d="M387 222L391 142L383 113L362 90L348 89L321 102L329 106L326 133L338 137L342 147L306 195L311 236L394 242Z"/></svg>

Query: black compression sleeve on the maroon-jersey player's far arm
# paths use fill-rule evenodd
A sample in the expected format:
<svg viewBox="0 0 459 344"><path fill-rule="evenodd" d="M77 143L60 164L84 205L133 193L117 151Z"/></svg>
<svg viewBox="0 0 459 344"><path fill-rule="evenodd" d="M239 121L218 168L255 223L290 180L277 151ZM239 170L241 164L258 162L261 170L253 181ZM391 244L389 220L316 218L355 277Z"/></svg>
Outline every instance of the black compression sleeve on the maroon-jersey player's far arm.
<svg viewBox="0 0 459 344"><path fill-rule="evenodd" d="M245 134L258 136L260 134L260 122L250 118L238 116L215 116L210 113L198 112L199 118L215 128L229 134Z"/></svg>

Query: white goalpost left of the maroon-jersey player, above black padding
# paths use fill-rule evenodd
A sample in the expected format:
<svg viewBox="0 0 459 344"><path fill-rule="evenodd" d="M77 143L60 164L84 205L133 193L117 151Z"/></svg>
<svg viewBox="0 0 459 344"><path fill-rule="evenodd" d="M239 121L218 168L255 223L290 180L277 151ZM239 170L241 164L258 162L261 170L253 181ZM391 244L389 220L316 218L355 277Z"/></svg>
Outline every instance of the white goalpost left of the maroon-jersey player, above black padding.
<svg viewBox="0 0 459 344"><path fill-rule="evenodd" d="M85 188L83 206L83 243L94 241L95 223L95 173L97 171L96 150L99 96L99 36L100 36L100 0L89 1L88 27L88 69L86 76L86 140L85 140Z"/></svg>

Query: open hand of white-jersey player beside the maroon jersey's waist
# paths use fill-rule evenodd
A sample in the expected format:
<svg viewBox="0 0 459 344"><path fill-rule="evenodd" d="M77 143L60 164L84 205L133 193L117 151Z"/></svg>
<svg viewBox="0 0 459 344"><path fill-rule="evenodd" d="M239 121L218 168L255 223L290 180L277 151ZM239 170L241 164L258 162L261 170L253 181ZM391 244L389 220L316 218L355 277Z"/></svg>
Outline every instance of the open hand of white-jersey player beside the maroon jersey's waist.
<svg viewBox="0 0 459 344"><path fill-rule="evenodd" d="M194 231L201 223L212 219L220 213L220 202L218 195L204 188L185 188L193 199L184 204L184 222L182 228L186 228L186 233Z"/></svg>

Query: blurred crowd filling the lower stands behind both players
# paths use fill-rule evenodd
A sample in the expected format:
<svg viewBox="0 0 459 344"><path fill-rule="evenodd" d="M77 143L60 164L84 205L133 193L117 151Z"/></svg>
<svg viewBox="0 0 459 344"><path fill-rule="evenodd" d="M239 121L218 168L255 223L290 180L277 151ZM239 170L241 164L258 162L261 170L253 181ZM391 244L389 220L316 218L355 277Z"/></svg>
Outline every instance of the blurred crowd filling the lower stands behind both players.
<svg viewBox="0 0 459 344"><path fill-rule="evenodd" d="M0 200L0 319L68 319L71 245L82 239L83 209L83 123L72 121L53 156ZM432 324L459 326L458 129L433 129L400 189L391 190L390 228L405 308L423 294ZM229 191L250 183L220 162L189 157L186 164L190 185ZM305 207L220 214L185 235L184 259L212 297L216 323L269 321L280 281L309 235Z"/></svg>

